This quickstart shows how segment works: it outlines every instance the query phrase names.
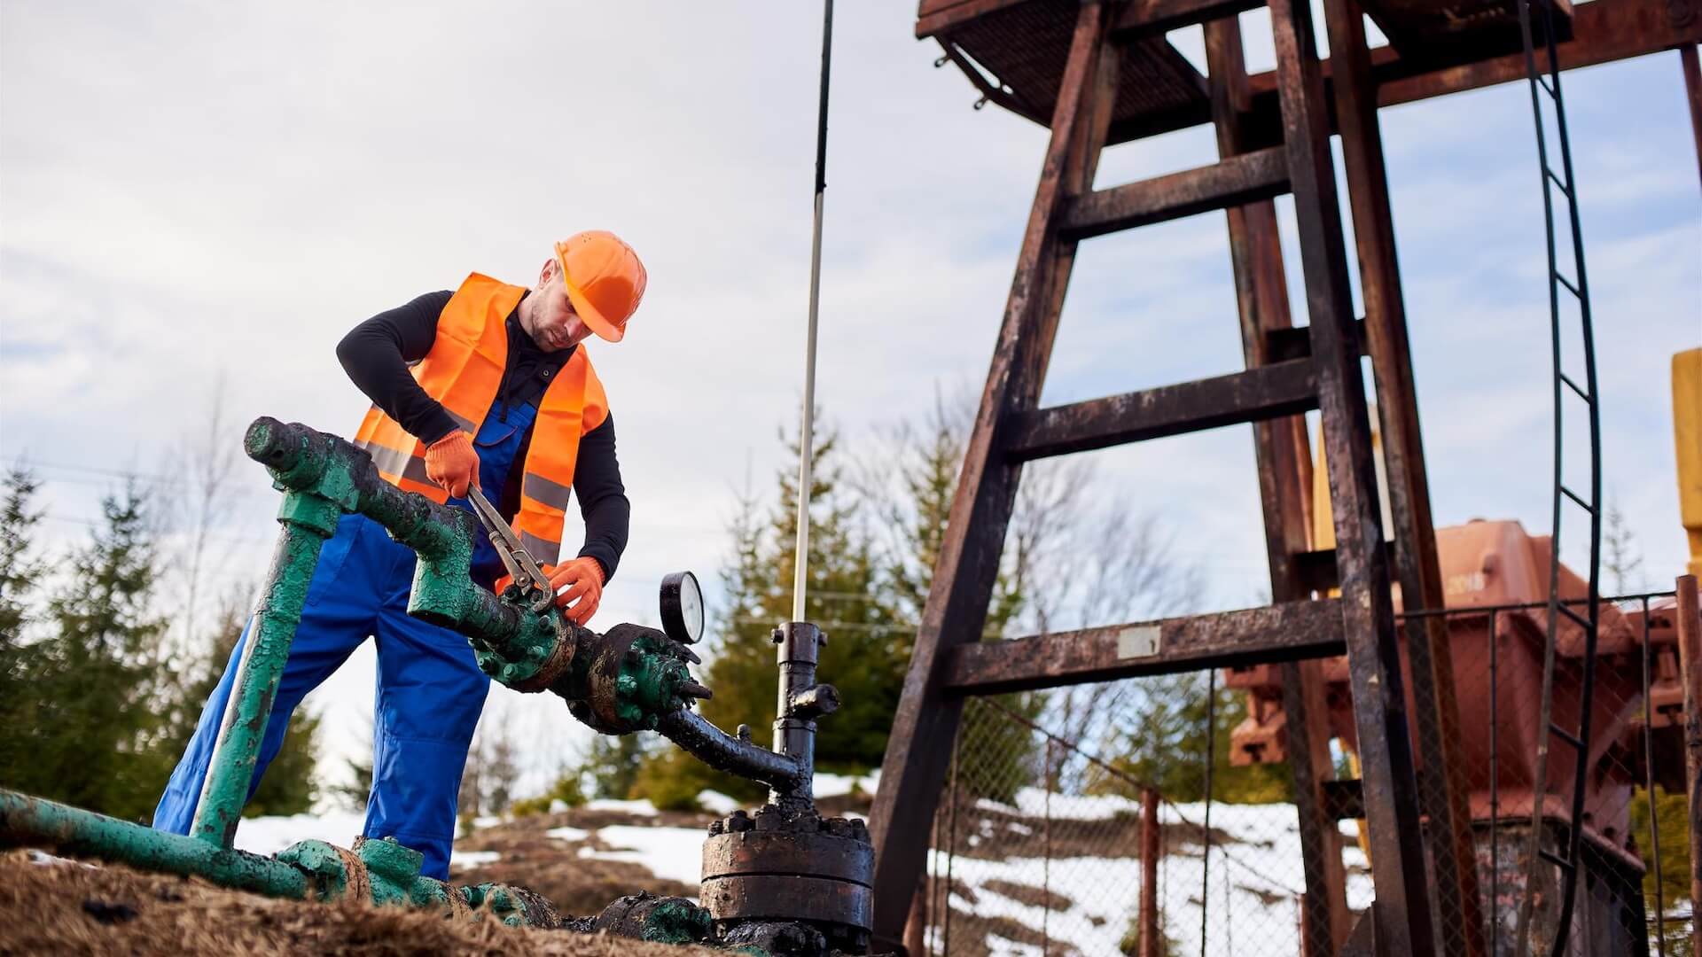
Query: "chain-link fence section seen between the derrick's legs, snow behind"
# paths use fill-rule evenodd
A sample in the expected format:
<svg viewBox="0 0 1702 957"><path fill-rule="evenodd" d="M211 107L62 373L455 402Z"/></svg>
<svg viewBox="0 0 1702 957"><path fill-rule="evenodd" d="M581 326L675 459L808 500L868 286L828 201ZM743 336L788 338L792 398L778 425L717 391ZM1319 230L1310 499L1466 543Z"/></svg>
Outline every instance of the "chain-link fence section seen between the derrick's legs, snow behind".
<svg viewBox="0 0 1702 957"><path fill-rule="evenodd" d="M1231 766L1239 696L1214 683L1198 673L967 702L934 819L922 950L1299 954L1305 872L1288 785L1278 768ZM1368 880L1353 874L1351 887L1363 908Z"/></svg>

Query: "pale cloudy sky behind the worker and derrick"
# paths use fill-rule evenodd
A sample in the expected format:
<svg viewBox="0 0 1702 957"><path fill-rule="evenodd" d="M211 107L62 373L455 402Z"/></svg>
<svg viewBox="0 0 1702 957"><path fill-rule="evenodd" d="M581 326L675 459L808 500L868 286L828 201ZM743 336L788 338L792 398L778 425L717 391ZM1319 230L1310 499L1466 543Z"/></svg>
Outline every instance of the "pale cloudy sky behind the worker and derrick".
<svg viewBox="0 0 1702 957"><path fill-rule="evenodd" d="M849 441L979 392L1045 131L972 111L912 39L914 0L839 5L819 400ZM332 352L468 271L529 283L550 242L628 238L650 271L620 346L631 547L597 623L654 620L657 579L717 577L735 490L783 461L802 393L819 5L0 5L0 460L48 480L44 538L87 536L116 472L172 485L223 390L347 434ZM1244 15L1249 65L1268 17ZM1173 41L1200 60L1198 31ZM1676 53L1566 77L1595 291L1605 480L1646 560L1682 570L1668 363L1702 344L1702 206ZM1438 524L1549 523L1542 199L1523 85L1384 111ZM1205 128L1125 145L1099 184L1215 158ZM1292 206L1292 286L1299 262ZM1043 402L1241 364L1222 215L1082 247ZM223 383L223 385L220 385ZM1256 599L1246 427L1093 453L1179 535L1203 608ZM255 579L276 496L243 467L218 540ZM575 535L572 528L568 536ZM1573 548L1568 547L1568 553ZM351 739L357 656L313 702ZM504 707L512 693L500 691ZM558 710L526 710L570 749ZM346 748L346 744L339 744Z"/></svg>

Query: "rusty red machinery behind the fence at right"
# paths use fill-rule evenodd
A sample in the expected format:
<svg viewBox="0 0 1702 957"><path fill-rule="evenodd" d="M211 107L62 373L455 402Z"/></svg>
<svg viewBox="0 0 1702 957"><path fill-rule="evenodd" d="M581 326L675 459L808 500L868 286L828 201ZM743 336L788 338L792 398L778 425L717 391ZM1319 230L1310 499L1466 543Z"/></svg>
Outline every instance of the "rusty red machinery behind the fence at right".
<svg viewBox="0 0 1702 957"><path fill-rule="evenodd" d="M1542 696L1542 644L1549 594L1549 538L1528 535L1516 521L1471 521L1436 530L1436 547L1447 584L1448 640L1454 657L1455 695L1460 707L1460 759L1471 787L1472 822L1515 822L1530 819L1532 776L1537 761L1539 703ZM1583 599L1585 582L1562 565L1561 596ZM1534 608L1506 608L1535 605ZM1401 608L1396 587L1396 608ZM1602 606L1596 650L1596 688L1590 775L1585 795L1585 838L1600 850L1622 857L1642 870L1629 828L1631 792L1646 778L1641 742L1642 640L1653 650L1649 700L1654 729L1656 783L1671 792L1683 788L1683 759L1678 729L1683 720L1683 688L1678 673L1678 644L1671 599L1649 603L1644 611ZM1494 622L1491 654L1489 628ZM1578 722L1578 668L1583 654L1581 630L1562 618L1556 650L1564 669L1556 676L1554 715ZM1350 751L1356 748L1348 700L1348 661L1324 662L1329 681L1331 736ZM1411 698L1411 669L1406 668L1402 630L1402 674ZM1568 679L1569 678L1569 679ZM1231 761L1258 765L1287 758L1282 683L1276 666L1231 668L1225 686L1248 693L1248 719L1231 734ZM1416 734L1416 729L1414 729ZM1671 741L1668 741L1671 739ZM1416 746L1414 746L1416 753ZM1665 759L1670 756L1671 759ZM1573 753L1552 748L1551 782L1571 780ZM1493 787L1491 787L1493 785ZM1571 800L1568 787L1551 785L1544 817L1564 822Z"/></svg>

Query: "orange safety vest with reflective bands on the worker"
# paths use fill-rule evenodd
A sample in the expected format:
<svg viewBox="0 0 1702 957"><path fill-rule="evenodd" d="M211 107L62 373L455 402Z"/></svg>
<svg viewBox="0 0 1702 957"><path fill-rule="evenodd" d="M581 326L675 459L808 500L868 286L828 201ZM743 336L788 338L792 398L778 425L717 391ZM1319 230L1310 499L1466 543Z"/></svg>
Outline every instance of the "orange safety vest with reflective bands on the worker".
<svg viewBox="0 0 1702 957"><path fill-rule="evenodd" d="M443 307L437 339L412 370L420 388L443 404L468 434L478 434L485 412L497 398L509 359L507 317L524 295L523 286L473 272ZM609 398L580 342L545 390L533 422L533 441L526 450L514 533L540 565L555 564L562 553L562 521L574 490L579 438L601 426L608 415ZM449 494L426 477L426 443L378 405L366 412L354 444L373 456L373 465L386 482L439 504L448 501Z"/></svg>

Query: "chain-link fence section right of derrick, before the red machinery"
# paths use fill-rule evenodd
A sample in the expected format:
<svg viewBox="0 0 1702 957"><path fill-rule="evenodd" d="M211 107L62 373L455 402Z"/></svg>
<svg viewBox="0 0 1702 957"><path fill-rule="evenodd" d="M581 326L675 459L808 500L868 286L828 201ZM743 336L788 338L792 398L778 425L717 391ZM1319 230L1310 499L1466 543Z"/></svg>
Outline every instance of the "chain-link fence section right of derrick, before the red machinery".
<svg viewBox="0 0 1702 957"><path fill-rule="evenodd" d="M1585 611L1583 601L1569 605ZM1528 899L1530 952L1549 954L1564 874L1540 857L1535 865L1530 862L1532 828L1540 848L1566 855L1579 758L1559 736L1549 736L1547 787L1540 814L1534 816L1547 606L1413 615L1402 622L1409 642L1425 618L1445 623L1454 659L1460 715L1454 758L1467 792L1477 858L1479 952L1516 954L1520 908ZM1576 732L1585 717L1583 645L1583 630L1561 616L1552 720L1568 732ZM1690 957L1683 686L1670 593L1602 599L1590 696L1579 877L1566 954ZM1423 720L1418 724L1419 736L1433 731ZM1421 790L1440 783L1438 778L1419 768ZM1448 954L1469 952L1460 923L1442 918L1438 943Z"/></svg>

